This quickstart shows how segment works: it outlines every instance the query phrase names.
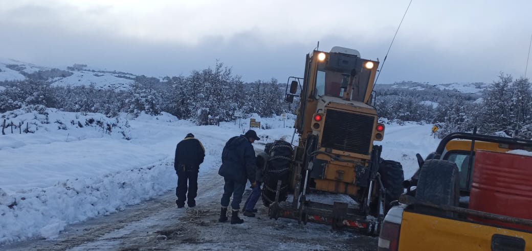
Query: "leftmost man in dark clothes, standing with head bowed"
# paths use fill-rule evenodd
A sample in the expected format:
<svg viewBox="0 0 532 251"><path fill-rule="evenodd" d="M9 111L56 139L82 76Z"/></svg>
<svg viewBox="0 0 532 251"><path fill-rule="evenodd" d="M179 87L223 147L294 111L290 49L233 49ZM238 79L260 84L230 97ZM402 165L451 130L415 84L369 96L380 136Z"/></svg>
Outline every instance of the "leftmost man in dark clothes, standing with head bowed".
<svg viewBox="0 0 532 251"><path fill-rule="evenodd" d="M187 201L189 207L196 206L198 172L204 158L205 149L199 140L194 139L194 134L187 134L185 139L177 144L176 159L173 167L176 169L177 174L176 204L178 208L184 207L185 201ZM186 194L187 188L188 195Z"/></svg>

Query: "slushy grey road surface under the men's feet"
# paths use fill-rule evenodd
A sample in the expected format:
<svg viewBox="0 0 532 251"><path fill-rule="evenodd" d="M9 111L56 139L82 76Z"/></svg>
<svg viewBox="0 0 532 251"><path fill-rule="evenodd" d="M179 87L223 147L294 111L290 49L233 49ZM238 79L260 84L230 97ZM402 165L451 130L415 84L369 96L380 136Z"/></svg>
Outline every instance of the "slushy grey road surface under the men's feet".
<svg viewBox="0 0 532 251"><path fill-rule="evenodd" d="M169 165L170 163L167 163ZM30 240L2 250L376 250L377 238L332 232L330 226L257 217L219 223L223 180L216 168L200 174L194 208L177 209L169 192L126 210L67 227L59 238ZM246 191L244 200L250 191Z"/></svg>

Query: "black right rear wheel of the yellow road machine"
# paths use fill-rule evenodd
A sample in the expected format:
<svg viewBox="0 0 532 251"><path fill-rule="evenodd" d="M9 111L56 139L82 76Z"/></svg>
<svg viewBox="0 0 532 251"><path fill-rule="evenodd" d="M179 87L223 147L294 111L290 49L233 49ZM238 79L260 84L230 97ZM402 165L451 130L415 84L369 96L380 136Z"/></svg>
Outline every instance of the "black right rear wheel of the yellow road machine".
<svg viewBox="0 0 532 251"><path fill-rule="evenodd" d="M401 163L393 160L383 160L379 164L380 179L386 188L385 214L390 209L390 202L398 200L403 194L404 172Z"/></svg>

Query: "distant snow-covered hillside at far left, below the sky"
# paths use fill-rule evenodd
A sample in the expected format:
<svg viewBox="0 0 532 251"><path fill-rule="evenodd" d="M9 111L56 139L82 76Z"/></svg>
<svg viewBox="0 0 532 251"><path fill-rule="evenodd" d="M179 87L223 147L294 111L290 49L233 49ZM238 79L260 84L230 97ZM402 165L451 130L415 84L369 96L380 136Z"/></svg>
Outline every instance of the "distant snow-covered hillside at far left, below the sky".
<svg viewBox="0 0 532 251"><path fill-rule="evenodd" d="M125 72L106 71L74 64L66 69L37 66L14 59L0 58L0 82L26 79L44 80L59 86L94 84L97 89L128 89L136 75Z"/></svg>

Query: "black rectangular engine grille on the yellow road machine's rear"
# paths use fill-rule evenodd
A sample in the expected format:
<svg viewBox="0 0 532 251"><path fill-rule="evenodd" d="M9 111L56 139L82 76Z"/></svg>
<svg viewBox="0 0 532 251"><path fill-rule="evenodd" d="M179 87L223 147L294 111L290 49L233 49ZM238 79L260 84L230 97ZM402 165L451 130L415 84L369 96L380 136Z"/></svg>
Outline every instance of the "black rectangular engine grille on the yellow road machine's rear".
<svg viewBox="0 0 532 251"><path fill-rule="evenodd" d="M321 147L369 155L375 117L328 109Z"/></svg>

